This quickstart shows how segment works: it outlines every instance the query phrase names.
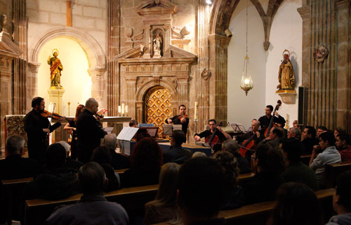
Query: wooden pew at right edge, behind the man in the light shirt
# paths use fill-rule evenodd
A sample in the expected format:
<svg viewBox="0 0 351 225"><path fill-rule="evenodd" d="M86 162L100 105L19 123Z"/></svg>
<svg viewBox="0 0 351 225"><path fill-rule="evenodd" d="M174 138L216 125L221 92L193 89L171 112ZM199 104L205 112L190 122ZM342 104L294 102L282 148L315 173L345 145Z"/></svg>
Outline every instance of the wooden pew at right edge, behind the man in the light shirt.
<svg viewBox="0 0 351 225"><path fill-rule="evenodd" d="M334 188L336 185L336 179L338 176L351 169L351 161L349 162L338 162L326 165L325 181L326 188Z"/></svg>

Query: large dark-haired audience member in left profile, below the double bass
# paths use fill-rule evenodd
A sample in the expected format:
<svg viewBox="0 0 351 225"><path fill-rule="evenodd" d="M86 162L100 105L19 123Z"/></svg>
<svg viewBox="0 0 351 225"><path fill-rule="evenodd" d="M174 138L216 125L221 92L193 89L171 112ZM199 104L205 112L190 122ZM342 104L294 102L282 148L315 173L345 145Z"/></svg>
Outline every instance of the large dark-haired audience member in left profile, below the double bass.
<svg viewBox="0 0 351 225"><path fill-rule="evenodd" d="M275 193L283 183L285 165L282 151L268 144L260 144L251 158L256 174L243 186L246 202L253 204L274 200Z"/></svg>

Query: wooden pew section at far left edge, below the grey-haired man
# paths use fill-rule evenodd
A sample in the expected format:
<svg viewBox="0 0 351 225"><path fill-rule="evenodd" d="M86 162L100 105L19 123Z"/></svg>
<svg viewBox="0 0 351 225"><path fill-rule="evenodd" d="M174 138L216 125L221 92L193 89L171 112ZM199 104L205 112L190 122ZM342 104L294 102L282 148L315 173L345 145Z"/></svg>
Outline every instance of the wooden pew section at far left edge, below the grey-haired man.
<svg viewBox="0 0 351 225"><path fill-rule="evenodd" d="M27 182L32 181L32 177L22 179L1 180L1 209L4 210L6 221L11 224L12 219L19 220L20 201ZM3 208L4 206L4 208Z"/></svg>

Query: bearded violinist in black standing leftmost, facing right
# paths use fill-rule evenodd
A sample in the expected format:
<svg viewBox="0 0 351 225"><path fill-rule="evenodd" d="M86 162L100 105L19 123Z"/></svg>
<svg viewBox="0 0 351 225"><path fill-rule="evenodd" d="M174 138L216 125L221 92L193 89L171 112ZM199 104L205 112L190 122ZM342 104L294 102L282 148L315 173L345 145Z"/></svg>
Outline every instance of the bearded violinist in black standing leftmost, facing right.
<svg viewBox="0 0 351 225"><path fill-rule="evenodd" d="M66 117L59 117L58 122L51 126L48 117L44 117L45 101L44 98L35 97L32 100L32 111L25 115L25 131L28 137L29 158L37 160L39 165L44 164L44 155L48 148L48 134L61 126L62 120Z"/></svg>

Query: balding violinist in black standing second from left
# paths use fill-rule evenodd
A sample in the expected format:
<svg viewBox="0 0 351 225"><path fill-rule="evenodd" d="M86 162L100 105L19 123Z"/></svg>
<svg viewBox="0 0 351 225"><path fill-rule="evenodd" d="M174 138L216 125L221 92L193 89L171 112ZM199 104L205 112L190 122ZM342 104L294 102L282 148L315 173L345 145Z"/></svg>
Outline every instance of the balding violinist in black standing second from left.
<svg viewBox="0 0 351 225"><path fill-rule="evenodd" d="M86 101L86 109L77 119L78 160L83 163L90 160L93 150L100 146L100 140L107 134L94 117L98 113L98 107L98 101L89 98Z"/></svg>

